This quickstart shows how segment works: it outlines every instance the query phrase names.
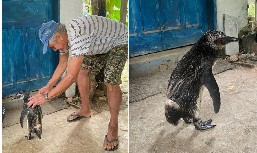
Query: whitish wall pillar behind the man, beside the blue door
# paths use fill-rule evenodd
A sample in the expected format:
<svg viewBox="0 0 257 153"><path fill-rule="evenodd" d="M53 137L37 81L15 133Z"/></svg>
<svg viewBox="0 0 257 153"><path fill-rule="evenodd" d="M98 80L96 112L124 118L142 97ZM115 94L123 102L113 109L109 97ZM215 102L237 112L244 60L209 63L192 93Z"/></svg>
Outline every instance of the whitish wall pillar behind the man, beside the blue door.
<svg viewBox="0 0 257 153"><path fill-rule="evenodd" d="M60 22L67 23L74 18L83 16L83 0L60 0ZM71 59L71 51L69 51L69 61ZM63 76L66 75L64 72ZM75 95L75 83L71 85L65 92L66 97Z"/></svg>

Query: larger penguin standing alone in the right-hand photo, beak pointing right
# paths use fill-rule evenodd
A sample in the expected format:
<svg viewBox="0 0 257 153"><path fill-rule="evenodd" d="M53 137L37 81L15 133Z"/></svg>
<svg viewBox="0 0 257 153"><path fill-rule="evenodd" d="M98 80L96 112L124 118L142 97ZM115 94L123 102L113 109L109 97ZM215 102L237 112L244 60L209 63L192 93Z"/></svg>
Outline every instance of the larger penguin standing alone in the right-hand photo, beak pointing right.
<svg viewBox="0 0 257 153"><path fill-rule="evenodd" d="M172 71L166 92L165 117L175 126L182 118L186 124L193 123L196 130L206 130L212 119L201 121L202 96L205 87L212 98L214 112L217 114L221 105L218 84L212 74L219 51L238 38L226 36L222 31L209 30L182 57Z"/></svg>

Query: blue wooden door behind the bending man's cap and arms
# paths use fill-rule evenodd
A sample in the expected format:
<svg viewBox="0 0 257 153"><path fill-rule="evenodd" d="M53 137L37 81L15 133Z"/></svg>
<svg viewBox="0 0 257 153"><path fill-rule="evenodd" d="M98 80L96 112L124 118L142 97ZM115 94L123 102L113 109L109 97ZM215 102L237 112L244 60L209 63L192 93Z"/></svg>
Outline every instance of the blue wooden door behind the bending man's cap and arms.
<svg viewBox="0 0 257 153"><path fill-rule="evenodd" d="M38 31L54 20L53 0L2 1L2 97L21 89L29 92L45 86L58 63L58 53L48 49Z"/></svg>

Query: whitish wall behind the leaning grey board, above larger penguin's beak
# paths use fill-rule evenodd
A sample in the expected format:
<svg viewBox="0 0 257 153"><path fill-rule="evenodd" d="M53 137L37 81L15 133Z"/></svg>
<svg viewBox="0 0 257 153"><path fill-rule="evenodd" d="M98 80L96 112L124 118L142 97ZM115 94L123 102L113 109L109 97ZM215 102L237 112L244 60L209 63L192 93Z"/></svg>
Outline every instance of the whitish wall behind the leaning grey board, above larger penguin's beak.
<svg viewBox="0 0 257 153"><path fill-rule="evenodd" d="M238 32L247 24L247 0L217 0L217 29L223 31L223 14L237 18Z"/></svg>

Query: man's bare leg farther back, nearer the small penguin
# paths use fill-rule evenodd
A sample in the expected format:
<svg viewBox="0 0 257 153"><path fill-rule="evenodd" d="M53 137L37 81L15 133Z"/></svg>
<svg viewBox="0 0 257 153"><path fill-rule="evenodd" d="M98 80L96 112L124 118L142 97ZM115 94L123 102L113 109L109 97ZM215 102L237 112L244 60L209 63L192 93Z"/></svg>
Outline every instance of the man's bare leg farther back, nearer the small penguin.
<svg viewBox="0 0 257 153"><path fill-rule="evenodd" d="M75 114L78 114L80 116L91 116L91 111L89 107L89 78L88 73L89 70L80 70L78 74L78 90L81 97L81 109L77 110ZM73 120L77 118L77 116L71 116L69 117L69 120Z"/></svg>

